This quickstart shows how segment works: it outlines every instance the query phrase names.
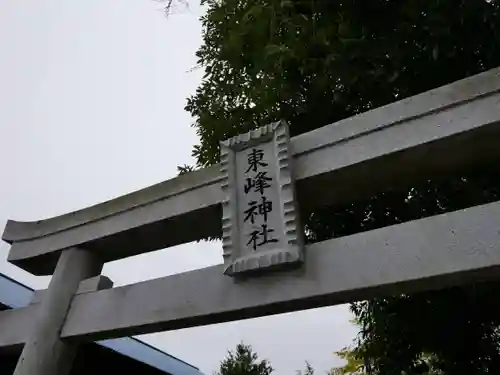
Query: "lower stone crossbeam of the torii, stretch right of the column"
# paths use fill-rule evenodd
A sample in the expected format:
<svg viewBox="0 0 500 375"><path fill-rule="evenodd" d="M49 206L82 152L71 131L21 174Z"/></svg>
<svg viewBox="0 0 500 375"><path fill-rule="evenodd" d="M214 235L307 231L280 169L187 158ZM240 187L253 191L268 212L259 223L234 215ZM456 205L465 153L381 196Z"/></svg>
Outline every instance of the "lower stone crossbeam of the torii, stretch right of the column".
<svg viewBox="0 0 500 375"><path fill-rule="evenodd" d="M62 337L113 338L498 277L500 203L333 239L303 268L237 280L224 266L78 295Z"/></svg>

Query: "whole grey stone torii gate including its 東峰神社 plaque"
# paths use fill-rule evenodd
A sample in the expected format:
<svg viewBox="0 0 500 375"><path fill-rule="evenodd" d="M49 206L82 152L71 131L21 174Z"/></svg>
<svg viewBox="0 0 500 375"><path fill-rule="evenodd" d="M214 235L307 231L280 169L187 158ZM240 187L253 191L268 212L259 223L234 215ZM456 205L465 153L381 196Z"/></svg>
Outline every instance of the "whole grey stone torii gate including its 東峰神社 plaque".
<svg viewBox="0 0 500 375"><path fill-rule="evenodd" d="M498 277L499 202L306 246L299 208L499 160L499 104L500 68L292 139L270 125L225 142L219 166L51 219L9 221L8 260L53 277L30 306L0 312L0 348L23 346L16 375L65 375L84 340ZM269 173L261 185L258 173ZM260 216L249 216L256 202ZM209 236L222 236L224 265L118 288L100 275L105 262Z"/></svg>

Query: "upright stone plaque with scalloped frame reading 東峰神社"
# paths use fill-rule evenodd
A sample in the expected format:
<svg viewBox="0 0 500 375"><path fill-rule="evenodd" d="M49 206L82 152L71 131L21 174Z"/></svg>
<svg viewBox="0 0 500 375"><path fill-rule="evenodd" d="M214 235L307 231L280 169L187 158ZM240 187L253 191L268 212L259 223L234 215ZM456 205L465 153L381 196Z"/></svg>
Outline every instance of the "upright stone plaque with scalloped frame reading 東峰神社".
<svg viewBox="0 0 500 375"><path fill-rule="evenodd" d="M284 121L221 143L224 274L303 262L292 167Z"/></svg>

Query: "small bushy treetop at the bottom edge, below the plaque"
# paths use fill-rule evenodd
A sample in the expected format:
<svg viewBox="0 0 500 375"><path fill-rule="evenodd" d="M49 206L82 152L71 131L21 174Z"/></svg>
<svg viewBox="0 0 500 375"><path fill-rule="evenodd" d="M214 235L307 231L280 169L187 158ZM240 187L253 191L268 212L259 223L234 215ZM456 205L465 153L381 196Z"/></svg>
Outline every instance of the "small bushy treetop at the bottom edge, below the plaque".
<svg viewBox="0 0 500 375"><path fill-rule="evenodd" d="M273 372L267 360L259 360L249 345L239 344L220 364L216 375L270 375Z"/></svg>

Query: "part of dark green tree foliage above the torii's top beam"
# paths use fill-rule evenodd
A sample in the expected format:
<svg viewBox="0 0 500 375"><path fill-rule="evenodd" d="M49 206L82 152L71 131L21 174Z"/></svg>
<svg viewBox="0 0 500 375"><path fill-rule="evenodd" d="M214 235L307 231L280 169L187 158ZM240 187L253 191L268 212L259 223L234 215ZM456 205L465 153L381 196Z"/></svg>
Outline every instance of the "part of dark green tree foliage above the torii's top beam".
<svg viewBox="0 0 500 375"><path fill-rule="evenodd" d="M478 0L202 0L200 165L286 119L306 132L496 66L498 6Z"/></svg>

